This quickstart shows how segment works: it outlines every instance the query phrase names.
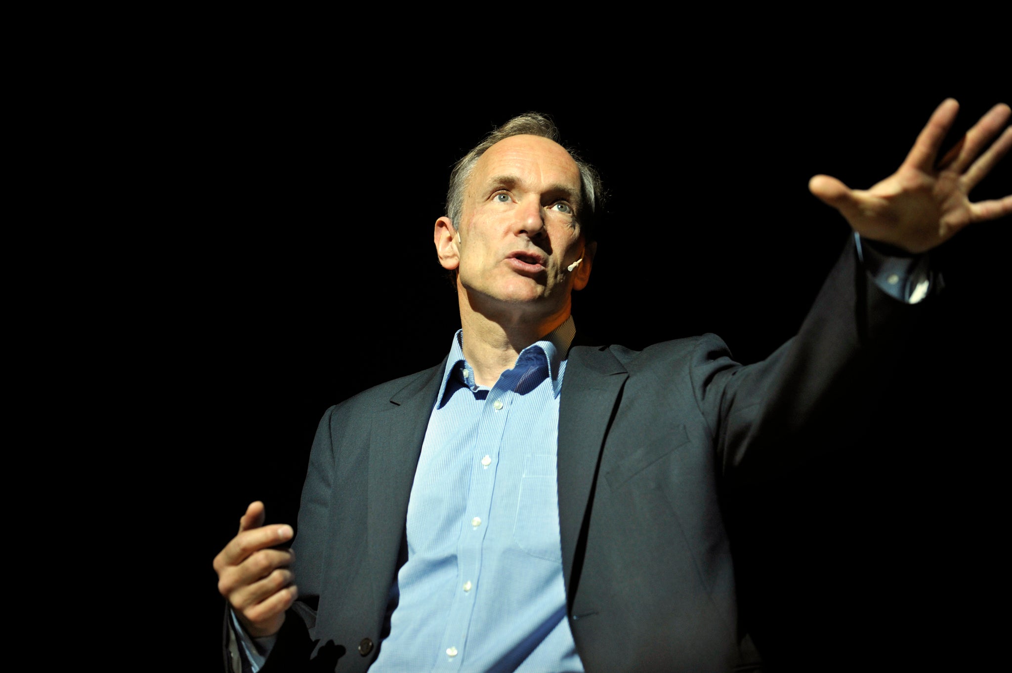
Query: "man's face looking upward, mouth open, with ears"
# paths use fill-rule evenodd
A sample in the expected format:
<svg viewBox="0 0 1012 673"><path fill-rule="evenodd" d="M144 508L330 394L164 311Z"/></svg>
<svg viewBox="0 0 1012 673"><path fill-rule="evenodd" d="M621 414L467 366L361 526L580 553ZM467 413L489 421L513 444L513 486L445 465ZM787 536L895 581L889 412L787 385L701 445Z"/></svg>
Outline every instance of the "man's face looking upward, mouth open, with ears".
<svg viewBox="0 0 1012 673"><path fill-rule="evenodd" d="M566 150L536 135L507 137L475 165L460 221L452 223L460 236L456 259L445 260L440 250L440 261L448 269L459 264L457 283L481 304L476 308L568 313L571 290L590 275L579 207L580 170ZM439 248L439 222L436 231Z"/></svg>

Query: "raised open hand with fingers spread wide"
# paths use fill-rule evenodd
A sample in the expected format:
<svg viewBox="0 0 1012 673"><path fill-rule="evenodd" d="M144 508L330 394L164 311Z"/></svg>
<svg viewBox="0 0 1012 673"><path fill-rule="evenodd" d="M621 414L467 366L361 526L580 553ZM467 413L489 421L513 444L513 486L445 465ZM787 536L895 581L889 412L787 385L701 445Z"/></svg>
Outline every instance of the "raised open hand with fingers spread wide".
<svg viewBox="0 0 1012 673"><path fill-rule="evenodd" d="M850 189L828 175L812 178L809 189L838 209L862 236L910 253L931 250L973 222L1012 213L1012 195L980 203L971 203L968 198L971 190L1012 148L1012 127L988 147L1008 123L1012 110L1004 103L995 105L936 162L958 111L955 100L943 101L900 169L870 189Z"/></svg>

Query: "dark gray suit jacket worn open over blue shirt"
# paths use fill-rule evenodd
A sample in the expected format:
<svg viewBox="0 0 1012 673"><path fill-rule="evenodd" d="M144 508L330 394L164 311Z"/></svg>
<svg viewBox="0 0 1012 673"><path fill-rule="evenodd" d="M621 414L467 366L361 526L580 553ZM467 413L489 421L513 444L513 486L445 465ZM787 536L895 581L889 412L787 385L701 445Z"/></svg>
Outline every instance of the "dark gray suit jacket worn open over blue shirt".
<svg viewBox="0 0 1012 673"><path fill-rule="evenodd" d="M798 334L743 367L712 334L642 352L574 346L559 418L570 627L588 672L746 663L723 495L851 424L913 307L848 245ZM294 541L301 598L265 671L375 658L443 364L329 409ZM298 663L297 663L298 662Z"/></svg>

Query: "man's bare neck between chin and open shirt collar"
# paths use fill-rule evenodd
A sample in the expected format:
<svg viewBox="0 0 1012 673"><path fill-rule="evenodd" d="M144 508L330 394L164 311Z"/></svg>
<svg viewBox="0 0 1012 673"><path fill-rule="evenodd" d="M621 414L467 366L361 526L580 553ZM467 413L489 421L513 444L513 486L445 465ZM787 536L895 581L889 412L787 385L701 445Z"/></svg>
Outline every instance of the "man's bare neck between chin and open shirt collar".
<svg viewBox="0 0 1012 673"><path fill-rule="evenodd" d="M459 299L463 357L475 370L475 382L480 386L494 386L499 376L516 363L520 351L544 339L569 318L571 310L567 301L558 312L535 318L523 310L529 306L507 305L502 310L479 311L466 291L461 291Z"/></svg>

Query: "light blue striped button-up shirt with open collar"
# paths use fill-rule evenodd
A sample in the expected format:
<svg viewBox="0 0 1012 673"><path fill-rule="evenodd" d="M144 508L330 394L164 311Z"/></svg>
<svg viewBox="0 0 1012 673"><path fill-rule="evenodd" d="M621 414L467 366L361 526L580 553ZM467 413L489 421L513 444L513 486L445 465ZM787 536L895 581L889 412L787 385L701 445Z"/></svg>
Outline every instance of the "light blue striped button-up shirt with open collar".
<svg viewBox="0 0 1012 673"><path fill-rule="evenodd" d="M453 338L370 671L583 671L566 618L556 450L572 317L491 388Z"/></svg>

